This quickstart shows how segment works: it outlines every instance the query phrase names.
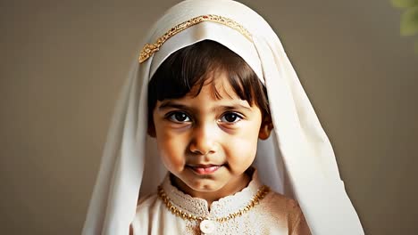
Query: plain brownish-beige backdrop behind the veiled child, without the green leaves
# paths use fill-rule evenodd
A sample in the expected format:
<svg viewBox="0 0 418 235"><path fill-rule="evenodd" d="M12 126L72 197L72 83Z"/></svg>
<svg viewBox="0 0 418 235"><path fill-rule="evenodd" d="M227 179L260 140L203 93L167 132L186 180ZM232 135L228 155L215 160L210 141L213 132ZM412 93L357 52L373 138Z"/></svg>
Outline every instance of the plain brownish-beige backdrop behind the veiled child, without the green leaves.
<svg viewBox="0 0 418 235"><path fill-rule="evenodd" d="M1 234L79 234L139 38L176 2L0 3ZM418 55L398 36L400 11L389 0L242 2L285 45L367 234L414 234Z"/></svg>

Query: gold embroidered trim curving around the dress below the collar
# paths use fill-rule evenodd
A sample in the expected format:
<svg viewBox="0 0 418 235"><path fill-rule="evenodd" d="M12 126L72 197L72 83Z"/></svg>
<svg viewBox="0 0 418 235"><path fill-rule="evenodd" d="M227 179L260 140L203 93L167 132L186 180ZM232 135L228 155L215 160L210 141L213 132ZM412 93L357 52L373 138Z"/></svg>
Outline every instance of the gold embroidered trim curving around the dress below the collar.
<svg viewBox="0 0 418 235"><path fill-rule="evenodd" d="M182 211L181 209L177 207L174 207L171 204L170 198L165 194L165 191L163 190L163 187L161 186L158 186L158 197L163 200L165 207L167 207L173 215L180 216L184 220L199 221L199 222L202 222L204 220L211 220L211 221L223 223L230 219L235 219L236 217L243 215L244 213L249 211L251 208L255 207L255 205L257 205L260 202L260 200L262 200L265 197L265 195L269 193L269 191L270 191L270 188L266 185L263 185L262 187L260 187L260 189L257 190L257 193L255 194L254 198L250 200L250 202L248 203L246 207L239 209L238 212L234 212L234 213L231 213L230 215L219 217L219 218L208 218L208 217L191 215L191 214L186 213L185 211Z"/></svg>

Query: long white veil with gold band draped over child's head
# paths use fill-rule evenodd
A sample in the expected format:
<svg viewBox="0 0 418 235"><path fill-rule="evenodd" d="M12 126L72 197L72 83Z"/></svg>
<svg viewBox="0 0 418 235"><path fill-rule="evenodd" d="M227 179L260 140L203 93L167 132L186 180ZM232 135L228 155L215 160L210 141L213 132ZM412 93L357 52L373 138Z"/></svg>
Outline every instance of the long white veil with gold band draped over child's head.
<svg viewBox="0 0 418 235"><path fill-rule="evenodd" d="M298 201L313 234L364 234L278 36L260 15L230 0L181 2L148 32L117 102L82 233L129 234L138 195L154 192L166 173L146 134L148 81L171 53L206 39L241 56L266 86L274 129L259 142L253 164L262 181Z"/></svg>

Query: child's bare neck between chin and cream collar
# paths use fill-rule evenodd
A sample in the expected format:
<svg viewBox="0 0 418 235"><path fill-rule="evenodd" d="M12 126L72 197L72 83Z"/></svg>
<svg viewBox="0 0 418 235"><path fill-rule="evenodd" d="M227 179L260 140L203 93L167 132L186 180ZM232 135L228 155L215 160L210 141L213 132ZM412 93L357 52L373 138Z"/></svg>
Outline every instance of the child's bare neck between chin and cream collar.
<svg viewBox="0 0 418 235"><path fill-rule="evenodd" d="M236 179L232 182L227 183L219 190L213 191L199 191L193 190L192 188L188 187L188 185L182 182L179 178L177 178L174 174L171 174L171 184L177 187L182 192L192 196L193 198L205 199L207 201L208 207L211 207L213 201L217 201L224 197L233 195L238 191L247 187L248 183L251 181L251 177L244 173L239 175Z"/></svg>

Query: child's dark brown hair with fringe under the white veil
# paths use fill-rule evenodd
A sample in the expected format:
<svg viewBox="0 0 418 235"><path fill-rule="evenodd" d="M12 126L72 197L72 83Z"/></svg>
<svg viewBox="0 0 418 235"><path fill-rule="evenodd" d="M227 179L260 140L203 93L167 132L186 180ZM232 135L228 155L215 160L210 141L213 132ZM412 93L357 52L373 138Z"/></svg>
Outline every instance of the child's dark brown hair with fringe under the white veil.
<svg viewBox="0 0 418 235"><path fill-rule="evenodd" d="M198 89L194 95L198 95L216 71L227 73L240 99L257 105L263 117L270 115L265 87L247 62L224 45L204 40L172 53L155 71L148 85L148 123L152 123L157 100L181 98L195 86ZM214 83L211 84L215 97L221 98Z"/></svg>

